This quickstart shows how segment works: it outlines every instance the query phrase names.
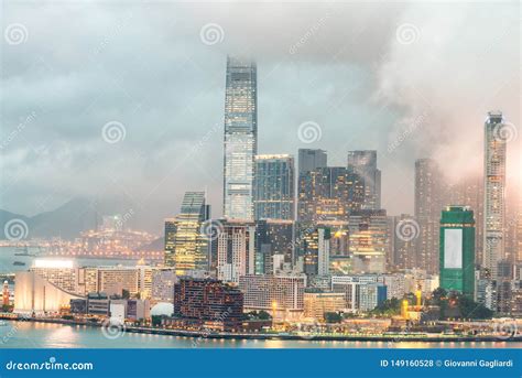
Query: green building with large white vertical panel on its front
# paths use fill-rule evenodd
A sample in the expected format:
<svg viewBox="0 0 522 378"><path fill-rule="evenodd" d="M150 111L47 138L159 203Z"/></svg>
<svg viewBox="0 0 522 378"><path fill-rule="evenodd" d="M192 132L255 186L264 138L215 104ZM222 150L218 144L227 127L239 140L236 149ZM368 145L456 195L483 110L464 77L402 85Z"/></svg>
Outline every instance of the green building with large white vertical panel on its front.
<svg viewBox="0 0 522 378"><path fill-rule="evenodd" d="M474 298L475 218L469 206L446 206L442 213L441 288Z"/></svg>

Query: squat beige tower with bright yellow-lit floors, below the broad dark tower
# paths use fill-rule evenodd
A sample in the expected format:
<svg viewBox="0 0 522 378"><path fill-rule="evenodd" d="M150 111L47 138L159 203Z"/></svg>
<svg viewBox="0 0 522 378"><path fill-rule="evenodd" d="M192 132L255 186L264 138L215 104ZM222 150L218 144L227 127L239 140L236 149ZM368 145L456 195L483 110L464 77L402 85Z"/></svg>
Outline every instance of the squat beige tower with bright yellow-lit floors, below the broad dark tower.
<svg viewBox="0 0 522 378"><path fill-rule="evenodd" d="M385 259L390 253L387 212L355 212L350 214L348 228L354 270L358 273L384 273Z"/></svg>

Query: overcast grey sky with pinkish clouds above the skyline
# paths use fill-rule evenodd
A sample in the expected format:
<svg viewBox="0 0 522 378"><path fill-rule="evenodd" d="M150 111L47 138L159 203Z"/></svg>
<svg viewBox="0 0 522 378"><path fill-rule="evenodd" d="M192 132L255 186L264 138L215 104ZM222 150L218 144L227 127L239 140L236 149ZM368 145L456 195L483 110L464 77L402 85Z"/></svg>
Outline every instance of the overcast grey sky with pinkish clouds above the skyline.
<svg viewBox="0 0 522 378"><path fill-rule="evenodd" d="M345 165L348 150L377 149L389 214L413 212L415 159L453 181L481 174L490 109L512 122L520 184L518 1L4 1L1 13L11 212L118 197L155 228L185 191L207 190L220 215L227 54L258 62L260 153L322 148ZM311 143L303 122L318 126Z"/></svg>

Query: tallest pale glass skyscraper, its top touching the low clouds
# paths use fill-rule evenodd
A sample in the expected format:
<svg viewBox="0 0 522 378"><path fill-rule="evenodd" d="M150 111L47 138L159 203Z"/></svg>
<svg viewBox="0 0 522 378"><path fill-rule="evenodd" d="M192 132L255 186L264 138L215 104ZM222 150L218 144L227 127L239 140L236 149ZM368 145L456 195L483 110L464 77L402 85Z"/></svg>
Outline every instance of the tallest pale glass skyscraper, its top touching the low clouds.
<svg viewBox="0 0 522 378"><path fill-rule="evenodd" d="M258 153L258 83L254 62L227 58L224 216L253 220Z"/></svg>

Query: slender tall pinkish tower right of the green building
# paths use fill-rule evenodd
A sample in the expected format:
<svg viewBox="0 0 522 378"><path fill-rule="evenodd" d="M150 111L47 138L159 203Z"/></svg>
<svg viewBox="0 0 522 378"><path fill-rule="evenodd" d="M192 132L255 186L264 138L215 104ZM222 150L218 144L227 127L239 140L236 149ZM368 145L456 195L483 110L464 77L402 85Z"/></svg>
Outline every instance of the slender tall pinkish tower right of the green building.
<svg viewBox="0 0 522 378"><path fill-rule="evenodd" d="M498 263L504 256L505 223L505 140L500 128L501 111L490 111L485 123L485 201L483 201L483 268L497 279Z"/></svg>

